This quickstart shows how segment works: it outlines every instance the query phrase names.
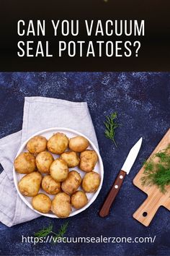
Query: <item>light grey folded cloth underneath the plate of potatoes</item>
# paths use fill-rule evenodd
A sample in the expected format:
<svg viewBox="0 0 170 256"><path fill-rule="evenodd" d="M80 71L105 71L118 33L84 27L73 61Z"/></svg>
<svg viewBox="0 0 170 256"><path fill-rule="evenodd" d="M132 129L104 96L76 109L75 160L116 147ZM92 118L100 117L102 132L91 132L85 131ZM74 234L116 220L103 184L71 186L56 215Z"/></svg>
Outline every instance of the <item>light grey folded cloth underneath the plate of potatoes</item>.
<svg viewBox="0 0 170 256"><path fill-rule="evenodd" d="M30 221L40 215L22 202L14 187L13 163L19 146L35 132L50 127L66 127L81 132L97 146L97 137L85 102L54 98L24 98L22 131L0 140L0 221L6 226Z"/></svg>

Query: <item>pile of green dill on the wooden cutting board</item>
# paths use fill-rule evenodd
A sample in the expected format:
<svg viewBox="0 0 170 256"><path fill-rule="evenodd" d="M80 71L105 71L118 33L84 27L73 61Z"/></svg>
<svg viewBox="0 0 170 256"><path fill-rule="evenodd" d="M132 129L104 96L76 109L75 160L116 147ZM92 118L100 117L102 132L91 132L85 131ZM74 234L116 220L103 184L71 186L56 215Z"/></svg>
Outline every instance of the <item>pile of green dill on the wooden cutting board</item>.
<svg viewBox="0 0 170 256"><path fill-rule="evenodd" d="M143 185L156 184L161 192L166 192L166 186L170 184L170 145L144 163L144 174L141 178Z"/></svg>

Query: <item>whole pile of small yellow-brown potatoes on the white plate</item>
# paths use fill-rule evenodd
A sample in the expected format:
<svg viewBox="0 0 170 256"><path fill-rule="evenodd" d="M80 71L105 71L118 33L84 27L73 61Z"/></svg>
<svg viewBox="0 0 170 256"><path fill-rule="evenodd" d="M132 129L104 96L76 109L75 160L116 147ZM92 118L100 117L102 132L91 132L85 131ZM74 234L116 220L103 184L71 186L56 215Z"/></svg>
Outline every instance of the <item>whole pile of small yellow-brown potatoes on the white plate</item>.
<svg viewBox="0 0 170 256"><path fill-rule="evenodd" d="M40 213L50 210L59 218L66 218L75 209L87 204L86 192L96 192L100 175L94 171L97 153L88 150L85 137L68 137L57 132L49 140L40 135L27 142L28 152L20 153L14 161L19 174L26 174L18 183L22 195L32 197L32 207ZM51 154L59 155L56 159ZM86 174L81 179L78 171L69 168L79 166ZM78 190L81 186L82 190ZM40 187L45 191L39 193ZM50 197L53 195L53 199Z"/></svg>

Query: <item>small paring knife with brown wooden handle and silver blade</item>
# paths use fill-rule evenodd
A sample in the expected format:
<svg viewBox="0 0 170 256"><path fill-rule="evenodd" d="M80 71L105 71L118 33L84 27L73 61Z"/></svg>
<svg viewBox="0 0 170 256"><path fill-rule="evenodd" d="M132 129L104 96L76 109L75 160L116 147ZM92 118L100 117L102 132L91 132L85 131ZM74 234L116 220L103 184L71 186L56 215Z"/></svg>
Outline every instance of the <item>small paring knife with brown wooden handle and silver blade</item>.
<svg viewBox="0 0 170 256"><path fill-rule="evenodd" d="M120 191L122 182L125 179L126 174L129 174L130 169L132 168L133 163L137 158L138 152L142 144L142 140L143 138L141 137L140 140L138 140L138 142L135 143L133 148L131 148L130 152L128 153L128 157L126 158L125 163L121 168L121 171L119 172L119 174L117 175L117 178L115 179L115 183L112 185L112 189L109 191L109 194L107 195L107 198L104 201L104 204L102 205L101 210L99 211L100 217L105 217L109 215L109 209L111 208L112 203L115 200L115 197Z"/></svg>

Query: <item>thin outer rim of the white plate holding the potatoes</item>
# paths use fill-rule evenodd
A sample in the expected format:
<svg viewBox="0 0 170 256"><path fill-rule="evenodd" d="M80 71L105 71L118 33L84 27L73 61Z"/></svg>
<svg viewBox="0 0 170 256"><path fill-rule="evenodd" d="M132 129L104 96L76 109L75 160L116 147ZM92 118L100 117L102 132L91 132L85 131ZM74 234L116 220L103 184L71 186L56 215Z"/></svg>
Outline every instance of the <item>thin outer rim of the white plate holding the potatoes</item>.
<svg viewBox="0 0 170 256"><path fill-rule="evenodd" d="M47 128L47 129L42 129L40 130L39 132L36 132L34 135L30 136L26 141L24 141L22 143L22 145L19 147L19 150L17 152L17 155L15 156L15 158L17 158L17 156L22 153L23 149L25 148L25 146L27 145L27 142L32 138L32 137L35 137L37 135L41 135L42 133L45 133L45 132L50 132L50 131L53 131L53 130L56 130L56 132L59 132L60 129L62 131L66 131L66 132L72 132L76 135L80 135L80 136L83 136L85 137L87 140L89 140L90 142L90 145L92 146L92 148L95 150L95 152L97 153L98 155L98 161L99 161L99 170L100 170L100 176L101 176L101 180L100 180L100 184L99 184L99 188L97 189L97 192L94 193L93 197L91 198L91 201L88 202L83 208L81 209L78 209L78 210L75 210L74 212L72 212L67 218L70 218L72 216L76 216L77 214L83 212L84 210L86 210L87 208L89 208L89 206L97 199L97 196L99 195L99 192L100 190L102 189L102 184L103 184L103 179L104 179L104 166L103 166L103 162L102 162L102 157L99 153L99 150L98 148L96 147L96 145L94 145L94 142L91 142L91 140L86 137L86 135L82 134L81 132L77 132L75 129L70 129L70 128L66 128L66 127L50 127L50 128ZM25 174L27 175L27 174ZM13 179L14 179L14 185L15 185L15 188L17 189L17 193L20 197L20 199L27 205L27 207L29 207L31 210L35 211L35 213L38 213L40 216L45 216L45 217L48 217L48 218L59 218L58 216L55 216L54 213L40 213L39 211L35 210L34 208L32 208L32 205L30 204L30 202L28 202L24 195L21 194L21 192L19 191L19 188L18 188L18 181L17 181L17 172L15 171L14 169L14 163L13 163Z"/></svg>

